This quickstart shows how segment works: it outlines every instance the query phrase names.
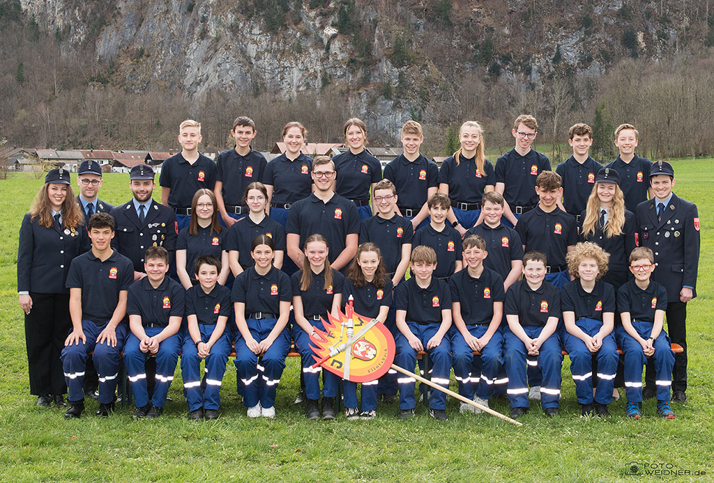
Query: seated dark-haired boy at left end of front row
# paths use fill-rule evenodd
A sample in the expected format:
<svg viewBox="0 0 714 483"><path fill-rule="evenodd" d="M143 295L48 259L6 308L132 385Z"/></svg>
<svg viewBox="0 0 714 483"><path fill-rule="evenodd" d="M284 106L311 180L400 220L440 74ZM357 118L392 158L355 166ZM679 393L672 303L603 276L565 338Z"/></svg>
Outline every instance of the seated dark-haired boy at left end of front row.
<svg viewBox="0 0 714 483"><path fill-rule="evenodd" d="M114 410L114 391L121 350L126 338L126 295L134 283L134 265L111 248L114 218L96 213L89 219L91 250L72 260L67 276L72 330L64 342L62 365L69 388L69 409L64 417L79 417L84 410L86 362L94 360L99 374L99 410Z"/></svg>

